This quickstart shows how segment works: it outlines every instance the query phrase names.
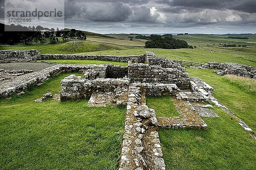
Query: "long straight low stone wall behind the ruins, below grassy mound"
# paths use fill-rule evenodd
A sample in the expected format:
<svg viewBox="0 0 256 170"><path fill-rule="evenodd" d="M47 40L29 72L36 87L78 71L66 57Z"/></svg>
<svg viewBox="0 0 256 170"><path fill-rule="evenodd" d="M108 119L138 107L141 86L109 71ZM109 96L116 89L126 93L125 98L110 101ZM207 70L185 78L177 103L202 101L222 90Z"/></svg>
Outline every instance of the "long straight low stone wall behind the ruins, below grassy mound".
<svg viewBox="0 0 256 170"><path fill-rule="evenodd" d="M115 62L128 62L132 58L137 58L138 62L145 62L145 55L115 56L115 55L90 55L90 54L42 54L41 59L85 59L103 60Z"/></svg>

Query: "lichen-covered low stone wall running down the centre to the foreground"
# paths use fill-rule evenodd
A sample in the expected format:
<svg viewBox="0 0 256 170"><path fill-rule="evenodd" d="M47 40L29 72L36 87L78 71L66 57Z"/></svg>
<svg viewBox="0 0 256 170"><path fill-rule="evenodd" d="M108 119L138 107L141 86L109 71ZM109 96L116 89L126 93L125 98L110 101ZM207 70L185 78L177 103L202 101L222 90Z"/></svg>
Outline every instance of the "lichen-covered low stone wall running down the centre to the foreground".
<svg viewBox="0 0 256 170"><path fill-rule="evenodd" d="M157 125L142 89L129 86L119 170L166 170Z"/></svg>

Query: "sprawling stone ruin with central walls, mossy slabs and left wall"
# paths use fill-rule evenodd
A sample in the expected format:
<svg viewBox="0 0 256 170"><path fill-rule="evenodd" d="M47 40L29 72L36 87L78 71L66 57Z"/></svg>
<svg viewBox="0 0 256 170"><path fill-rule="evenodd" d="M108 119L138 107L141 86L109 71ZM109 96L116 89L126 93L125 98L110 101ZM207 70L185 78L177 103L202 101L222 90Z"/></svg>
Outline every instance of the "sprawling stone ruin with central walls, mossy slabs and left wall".
<svg viewBox="0 0 256 170"><path fill-rule="evenodd" d="M87 55L51 54L50 56L88 59ZM113 58L120 61L122 57ZM122 61L125 60L128 61L127 67L112 64L54 65L0 83L0 96L18 93L61 73L84 74L83 78L71 74L61 80L60 100L64 102L90 98L87 103L89 107L126 106L119 170L165 170L158 127L207 130L207 124L200 116L218 117L218 115L209 109L212 105L203 103L205 101L213 102L235 117L253 136L254 132L250 127L212 96L213 88L210 85L198 77L190 78L185 68L175 61L157 57L152 52L123 57ZM163 95L172 98L180 116L158 117L153 108L148 108L146 96ZM46 97L43 96L40 102Z"/></svg>

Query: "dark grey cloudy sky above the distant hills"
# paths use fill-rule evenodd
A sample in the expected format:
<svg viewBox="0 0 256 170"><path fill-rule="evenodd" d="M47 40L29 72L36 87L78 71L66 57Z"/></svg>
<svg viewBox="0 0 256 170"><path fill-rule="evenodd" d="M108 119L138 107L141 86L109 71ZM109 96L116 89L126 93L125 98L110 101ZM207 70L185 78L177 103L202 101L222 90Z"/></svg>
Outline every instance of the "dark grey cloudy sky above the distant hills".
<svg viewBox="0 0 256 170"><path fill-rule="evenodd" d="M46 0L25 3L36 1ZM66 28L98 33L256 33L256 0L65 0L64 6Z"/></svg>

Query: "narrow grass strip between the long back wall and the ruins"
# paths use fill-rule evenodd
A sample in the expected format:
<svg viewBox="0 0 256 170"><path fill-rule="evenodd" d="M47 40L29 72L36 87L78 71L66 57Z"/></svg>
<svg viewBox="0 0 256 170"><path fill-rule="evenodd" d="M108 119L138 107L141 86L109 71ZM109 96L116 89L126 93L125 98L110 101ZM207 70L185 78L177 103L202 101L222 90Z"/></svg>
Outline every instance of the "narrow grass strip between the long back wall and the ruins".
<svg viewBox="0 0 256 170"><path fill-rule="evenodd" d="M56 62L61 64L113 64L113 65L122 65L127 66L127 62L113 62L113 61L101 61L101 60L84 60L84 59L47 59L47 60L38 60L38 62L47 61L47 62Z"/></svg>

